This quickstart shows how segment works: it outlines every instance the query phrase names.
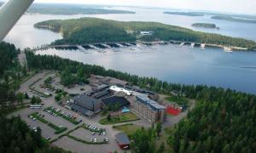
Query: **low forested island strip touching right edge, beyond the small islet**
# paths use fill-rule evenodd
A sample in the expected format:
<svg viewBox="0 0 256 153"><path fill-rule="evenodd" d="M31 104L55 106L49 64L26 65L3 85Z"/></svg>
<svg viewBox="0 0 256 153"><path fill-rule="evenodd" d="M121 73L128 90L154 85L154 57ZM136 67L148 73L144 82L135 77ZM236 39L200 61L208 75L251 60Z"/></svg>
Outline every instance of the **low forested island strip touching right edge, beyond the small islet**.
<svg viewBox="0 0 256 153"><path fill-rule="evenodd" d="M214 20L229 20L229 21L234 21L234 22L256 24L256 19L240 18L240 17L236 17L236 16L231 16L231 15L216 15L216 16L212 16L211 18Z"/></svg>

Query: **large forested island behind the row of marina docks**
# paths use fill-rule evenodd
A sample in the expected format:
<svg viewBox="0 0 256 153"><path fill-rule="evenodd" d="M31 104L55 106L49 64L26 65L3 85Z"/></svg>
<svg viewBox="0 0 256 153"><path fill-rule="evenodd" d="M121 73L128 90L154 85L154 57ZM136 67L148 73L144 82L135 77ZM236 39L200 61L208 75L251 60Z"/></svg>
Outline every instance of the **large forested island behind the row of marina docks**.
<svg viewBox="0 0 256 153"><path fill-rule="evenodd" d="M174 40L256 49L256 42L243 38L193 31L183 27L170 26L157 22L123 22L81 18L74 20L47 20L35 24L35 27L61 32L63 39L56 40L53 44ZM152 34L141 35L141 31L152 31Z"/></svg>

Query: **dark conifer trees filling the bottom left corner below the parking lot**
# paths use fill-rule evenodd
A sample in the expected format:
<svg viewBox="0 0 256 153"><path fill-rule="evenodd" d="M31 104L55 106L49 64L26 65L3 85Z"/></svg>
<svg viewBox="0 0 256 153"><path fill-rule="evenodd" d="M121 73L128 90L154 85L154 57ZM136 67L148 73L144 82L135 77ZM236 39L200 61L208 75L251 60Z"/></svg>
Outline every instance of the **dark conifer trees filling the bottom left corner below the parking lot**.
<svg viewBox="0 0 256 153"><path fill-rule="evenodd" d="M20 153L66 153L61 148L52 147L42 139L41 129L31 130L20 117L0 116L0 152Z"/></svg>

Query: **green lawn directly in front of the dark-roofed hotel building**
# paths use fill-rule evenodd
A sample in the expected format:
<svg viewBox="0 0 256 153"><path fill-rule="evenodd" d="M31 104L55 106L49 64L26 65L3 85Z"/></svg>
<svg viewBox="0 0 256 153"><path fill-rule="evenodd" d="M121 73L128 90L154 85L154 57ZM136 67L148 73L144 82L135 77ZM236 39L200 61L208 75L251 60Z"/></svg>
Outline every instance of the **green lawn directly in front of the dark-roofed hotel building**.
<svg viewBox="0 0 256 153"><path fill-rule="evenodd" d="M139 118L135 114L131 112L127 112L120 116L111 116L111 119L109 121L107 117L103 118L102 120L100 120L100 123L102 125L106 125L106 124L116 124L119 122L130 122L130 121L136 121L136 120L139 120Z"/></svg>

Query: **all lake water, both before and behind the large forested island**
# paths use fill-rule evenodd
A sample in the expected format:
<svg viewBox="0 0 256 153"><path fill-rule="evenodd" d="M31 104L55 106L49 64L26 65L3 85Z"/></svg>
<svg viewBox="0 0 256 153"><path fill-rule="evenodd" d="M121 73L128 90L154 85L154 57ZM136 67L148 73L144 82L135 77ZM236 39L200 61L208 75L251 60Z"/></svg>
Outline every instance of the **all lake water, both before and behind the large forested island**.
<svg viewBox="0 0 256 153"><path fill-rule="evenodd" d="M114 8L118 9L118 8ZM253 24L224 20L211 20L210 16L189 17L162 14L166 10L145 8L119 8L136 11L137 14L97 14L97 15L42 15L26 14L15 28L9 32L5 41L13 42L19 48L36 47L53 42L61 35L47 30L33 28L38 21L80 18L84 16L109 20L157 21L165 24L188 27L197 31L220 33L232 37L243 37L256 41L256 28ZM198 29L191 27L195 22L215 23L220 30ZM145 77L157 77L168 82L185 84L207 84L256 94L256 53L224 53L221 48L176 48L173 45L157 45L152 48L120 48L101 53L96 50L81 51L55 50L39 51L38 54L56 54L63 58L74 59L88 64L102 65L106 68L127 71ZM254 68L244 68L254 67Z"/></svg>

